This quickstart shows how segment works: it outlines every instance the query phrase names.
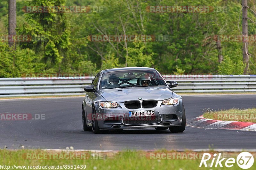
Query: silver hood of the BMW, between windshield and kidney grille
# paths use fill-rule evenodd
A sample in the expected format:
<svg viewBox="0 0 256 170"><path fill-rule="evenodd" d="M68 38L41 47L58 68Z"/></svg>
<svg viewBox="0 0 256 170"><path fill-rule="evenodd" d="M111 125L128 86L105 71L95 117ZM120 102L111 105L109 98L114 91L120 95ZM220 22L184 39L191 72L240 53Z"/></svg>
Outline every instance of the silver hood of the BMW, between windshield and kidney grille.
<svg viewBox="0 0 256 170"><path fill-rule="evenodd" d="M172 97L172 90L166 87L126 87L102 89L98 93L107 101L122 103L129 100L164 100Z"/></svg>

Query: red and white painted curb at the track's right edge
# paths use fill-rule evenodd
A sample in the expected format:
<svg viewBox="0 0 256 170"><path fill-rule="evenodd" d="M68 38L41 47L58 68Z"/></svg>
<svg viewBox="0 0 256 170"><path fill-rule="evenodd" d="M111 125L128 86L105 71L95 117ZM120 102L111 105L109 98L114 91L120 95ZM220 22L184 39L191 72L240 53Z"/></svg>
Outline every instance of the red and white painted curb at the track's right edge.
<svg viewBox="0 0 256 170"><path fill-rule="evenodd" d="M233 129L244 131L255 131L256 123L252 122L234 122L206 119L203 116L196 117L187 122L187 126L207 129Z"/></svg>

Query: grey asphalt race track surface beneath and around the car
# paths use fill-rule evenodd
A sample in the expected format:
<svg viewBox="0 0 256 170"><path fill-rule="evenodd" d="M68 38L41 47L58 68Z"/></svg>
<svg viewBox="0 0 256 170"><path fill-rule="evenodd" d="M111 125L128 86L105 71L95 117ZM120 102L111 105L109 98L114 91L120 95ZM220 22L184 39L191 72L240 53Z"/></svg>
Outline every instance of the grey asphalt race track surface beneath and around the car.
<svg viewBox="0 0 256 170"><path fill-rule="evenodd" d="M136 129L93 134L82 128L82 100L76 98L0 100L0 113L45 114L45 120L0 120L0 148L122 150L122 149L255 149L256 132L186 127ZM202 115L203 108L252 108L256 95L183 96L187 121Z"/></svg>

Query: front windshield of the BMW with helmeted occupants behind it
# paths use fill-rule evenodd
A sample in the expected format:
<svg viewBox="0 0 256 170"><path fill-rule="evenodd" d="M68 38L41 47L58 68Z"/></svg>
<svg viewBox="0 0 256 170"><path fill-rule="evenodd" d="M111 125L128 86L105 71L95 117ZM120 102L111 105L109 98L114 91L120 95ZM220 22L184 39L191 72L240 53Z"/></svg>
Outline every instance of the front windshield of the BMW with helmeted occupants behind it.
<svg viewBox="0 0 256 170"><path fill-rule="evenodd" d="M166 86L164 79L156 71L115 71L103 73L100 89L125 87Z"/></svg>

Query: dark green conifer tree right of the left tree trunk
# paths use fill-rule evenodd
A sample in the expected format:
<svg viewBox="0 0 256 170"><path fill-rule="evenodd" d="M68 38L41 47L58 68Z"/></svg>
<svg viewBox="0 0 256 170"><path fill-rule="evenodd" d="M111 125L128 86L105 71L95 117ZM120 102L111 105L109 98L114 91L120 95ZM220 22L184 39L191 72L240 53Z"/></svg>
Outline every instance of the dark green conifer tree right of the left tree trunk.
<svg viewBox="0 0 256 170"><path fill-rule="evenodd" d="M32 0L29 5L34 6L62 6L64 0ZM41 37L41 41L32 41L21 44L22 48L35 49L42 55L47 68L59 70L60 63L67 54L70 45L70 30L67 17L64 13L27 13L26 22L19 33Z"/></svg>

